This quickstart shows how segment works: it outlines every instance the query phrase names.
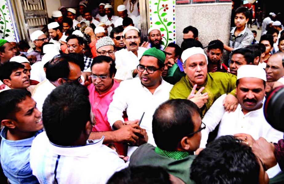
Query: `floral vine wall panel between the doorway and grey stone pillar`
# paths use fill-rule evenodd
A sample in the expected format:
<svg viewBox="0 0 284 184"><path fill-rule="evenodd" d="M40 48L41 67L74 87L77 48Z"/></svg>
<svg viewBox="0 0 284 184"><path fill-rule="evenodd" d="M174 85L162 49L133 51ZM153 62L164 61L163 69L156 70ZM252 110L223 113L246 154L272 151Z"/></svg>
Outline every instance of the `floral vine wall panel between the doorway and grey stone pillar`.
<svg viewBox="0 0 284 184"><path fill-rule="evenodd" d="M175 0L149 1L150 27L158 27L162 34L163 49L175 43Z"/></svg>

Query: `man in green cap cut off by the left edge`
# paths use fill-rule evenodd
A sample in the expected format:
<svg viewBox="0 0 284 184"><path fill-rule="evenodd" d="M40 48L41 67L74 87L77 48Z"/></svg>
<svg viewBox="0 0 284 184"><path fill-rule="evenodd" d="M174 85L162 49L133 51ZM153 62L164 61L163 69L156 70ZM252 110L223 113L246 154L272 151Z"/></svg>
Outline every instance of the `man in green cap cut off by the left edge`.
<svg viewBox="0 0 284 184"><path fill-rule="evenodd" d="M0 65L16 56L16 49L7 40L0 39Z"/></svg>

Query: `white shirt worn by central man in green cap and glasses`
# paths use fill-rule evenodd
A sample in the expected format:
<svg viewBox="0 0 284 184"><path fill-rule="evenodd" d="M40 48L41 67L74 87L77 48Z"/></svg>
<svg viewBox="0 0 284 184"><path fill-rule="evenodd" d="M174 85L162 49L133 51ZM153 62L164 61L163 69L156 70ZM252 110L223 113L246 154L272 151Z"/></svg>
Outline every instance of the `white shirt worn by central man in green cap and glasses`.
<svg viewBox="0 0 284 184"><path fill-rule="evenodd" d="M172 84L162 80L161 85L152 94L141 84L138 77L122 81L114 91L113 101L110 103L107 111L107 119L110 126L112 127L114 122L118 120L124 122L122 115L125 110L129 121L140 120L143 112L145 112L140 127L146 129L148 143L156 146L152 133L152 116L156 108L169 99L172 87ZM130 156L136 148L130 147L127 155Z"/></svg>

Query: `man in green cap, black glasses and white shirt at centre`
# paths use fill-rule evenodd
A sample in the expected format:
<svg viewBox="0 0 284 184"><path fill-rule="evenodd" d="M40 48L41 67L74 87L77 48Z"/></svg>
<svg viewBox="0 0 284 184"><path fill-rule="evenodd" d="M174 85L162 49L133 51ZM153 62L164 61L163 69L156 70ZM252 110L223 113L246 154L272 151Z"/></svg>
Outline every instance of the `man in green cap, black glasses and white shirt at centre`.
<svg viewBox="0 0 284 184"><path fill-rule="evenodd" d="M156 48L146 50L137 66L138 77L120 83L114 92L113 101L107 112L108 122L113 129L137 124L145 112L140 123L141 129L140 127L139 129L146 130L148 143L154 146L156 144L152 134L152 117L155 109L169 99L170 90L173 87L161 77L165 58L166 56L161 50ZM122 118L125 110L128 115L127 121ZM133 139L138 143L145 141L143 137L138 137L138 135ZM136 150L136 146L128 147L127 156Z"/></svg>

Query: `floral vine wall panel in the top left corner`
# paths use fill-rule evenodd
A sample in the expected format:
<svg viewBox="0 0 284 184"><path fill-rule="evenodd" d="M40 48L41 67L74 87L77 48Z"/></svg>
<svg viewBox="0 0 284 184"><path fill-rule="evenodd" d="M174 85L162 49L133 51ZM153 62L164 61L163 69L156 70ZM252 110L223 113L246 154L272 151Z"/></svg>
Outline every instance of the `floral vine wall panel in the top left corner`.
<svg viewBox="0 0 284 184"><path fill-rule="evenodd" d="M0 1L0 39L12 37L19 41L10 0Z"/></svg>

